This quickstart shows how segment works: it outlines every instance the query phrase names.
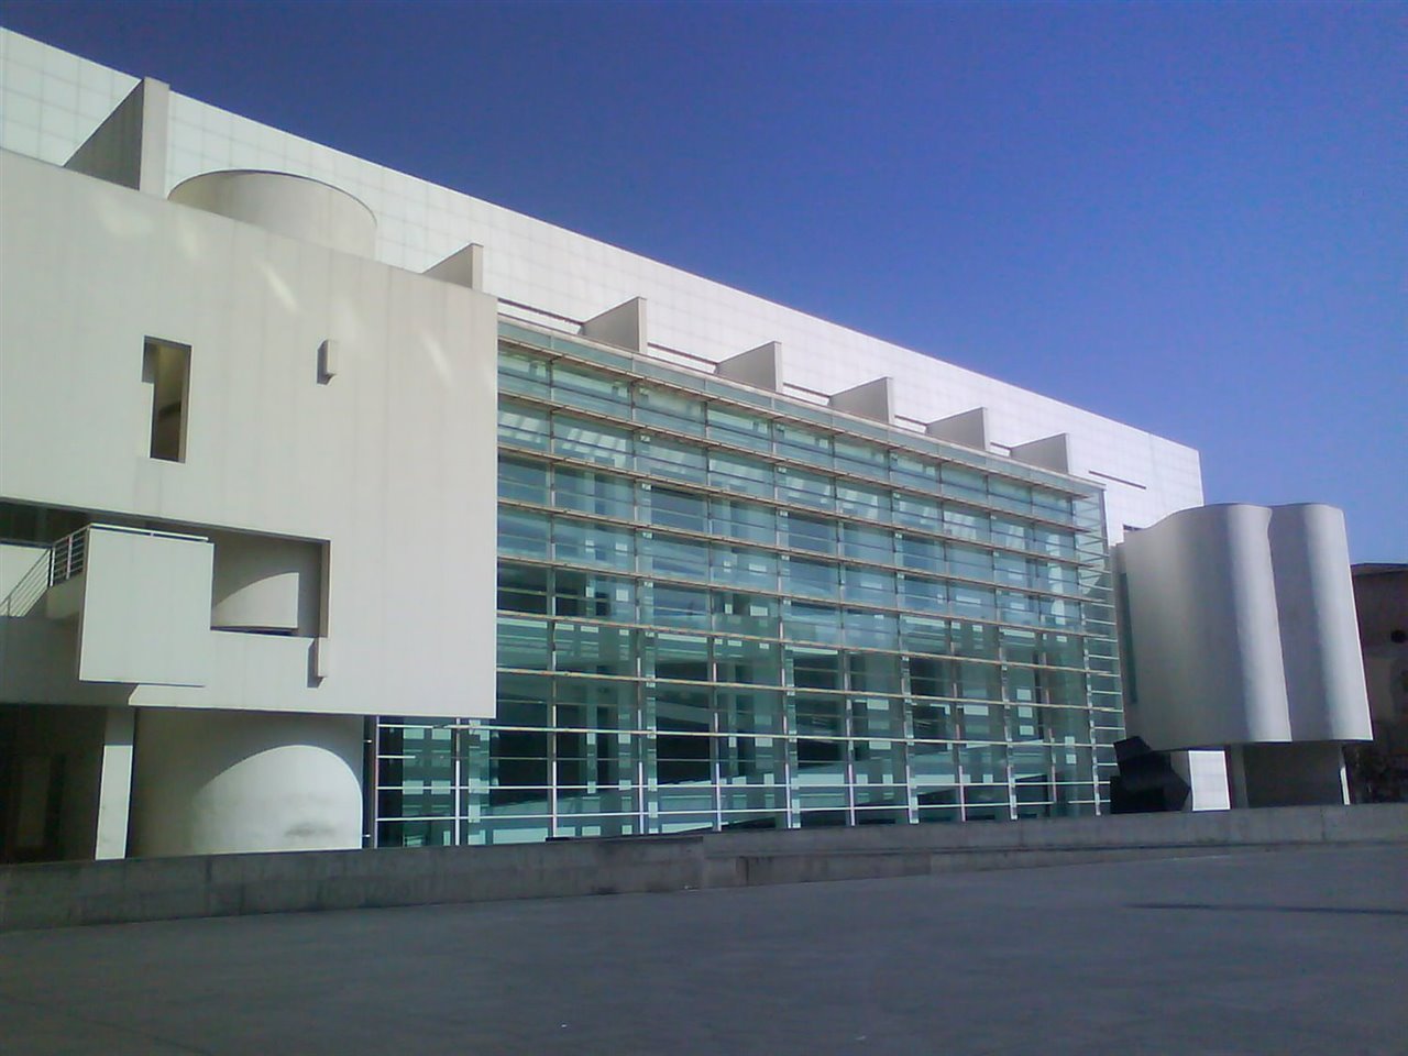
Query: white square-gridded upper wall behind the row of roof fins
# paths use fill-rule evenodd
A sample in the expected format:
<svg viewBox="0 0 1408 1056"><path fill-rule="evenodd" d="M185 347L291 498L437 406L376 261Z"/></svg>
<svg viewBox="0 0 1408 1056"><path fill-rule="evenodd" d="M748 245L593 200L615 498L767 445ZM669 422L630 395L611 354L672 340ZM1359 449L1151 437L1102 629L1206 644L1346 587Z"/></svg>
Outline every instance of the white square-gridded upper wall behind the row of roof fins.
<svg viewBox="0 0 1408 1056"><path fill-rule="evenodd" d="M137 83L0 31L7 149L62 163ZM32 93L38 90L39 99ZM25 100L31 101L25 101ZM39 124L42 122L42 124ZM632 297L650 304L650 341L711 360L780 341L786 380L822 393L895 379L897 414L931 421L990 408L998 451L1067 432L1073 466L1108 493L1112 541L1202 501L1197 452L929 355L649 260L598 239L431 184L179 93L170 96L166 190L218 169L273 169L339 186L377 215L377 259L421 272L467 242L486 246L486 291L584 320Z"/></svg>

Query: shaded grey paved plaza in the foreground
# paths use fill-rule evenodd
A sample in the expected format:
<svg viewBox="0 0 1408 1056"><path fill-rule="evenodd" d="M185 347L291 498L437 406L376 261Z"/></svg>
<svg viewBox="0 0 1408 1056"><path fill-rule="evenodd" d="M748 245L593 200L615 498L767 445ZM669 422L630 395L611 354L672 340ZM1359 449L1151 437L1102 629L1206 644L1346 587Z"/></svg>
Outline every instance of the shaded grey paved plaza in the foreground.
<svg viewBox="0 0 1408 1056"><path fill-rule="evenodd" d="M0 1052L1408 1052L1408 848L0 935Z"/></svg>

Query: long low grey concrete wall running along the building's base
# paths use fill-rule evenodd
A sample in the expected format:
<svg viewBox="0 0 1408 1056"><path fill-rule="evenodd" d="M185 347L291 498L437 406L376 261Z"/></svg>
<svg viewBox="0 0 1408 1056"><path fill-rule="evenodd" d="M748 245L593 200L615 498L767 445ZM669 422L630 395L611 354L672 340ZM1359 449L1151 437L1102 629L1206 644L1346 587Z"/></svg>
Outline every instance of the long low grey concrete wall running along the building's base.
<svg viewBox="0 0 1408 1056"><path fill-rule="evenodd" d="M922 876L1366 842L1408 842L1408 805L59 862L0 867L0 931Z"/></svg>

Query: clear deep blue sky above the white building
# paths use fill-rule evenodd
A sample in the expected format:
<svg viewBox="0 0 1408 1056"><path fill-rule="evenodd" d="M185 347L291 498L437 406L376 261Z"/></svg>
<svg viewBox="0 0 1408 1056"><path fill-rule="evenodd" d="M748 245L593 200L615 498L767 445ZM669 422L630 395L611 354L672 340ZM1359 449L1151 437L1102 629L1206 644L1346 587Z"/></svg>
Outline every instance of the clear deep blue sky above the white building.
<svg viewBox="0 0 1408 1056"><path fill-rule="evenodd" d="M1408 560L1408 4L28 3L177 92L1171 436Z"/></svg>

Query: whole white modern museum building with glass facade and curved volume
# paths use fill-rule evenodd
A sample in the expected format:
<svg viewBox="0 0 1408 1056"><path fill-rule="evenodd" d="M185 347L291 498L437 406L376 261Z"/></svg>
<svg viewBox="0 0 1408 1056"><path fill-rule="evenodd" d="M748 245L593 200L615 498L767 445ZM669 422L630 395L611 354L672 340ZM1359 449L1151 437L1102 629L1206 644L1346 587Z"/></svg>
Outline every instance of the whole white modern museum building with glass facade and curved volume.
<svg viewBox="0 0 1408 1056"><path fill-rule="evenodd" d="M0 860L1342 803L1345 522L0 31Z"/></svg>

